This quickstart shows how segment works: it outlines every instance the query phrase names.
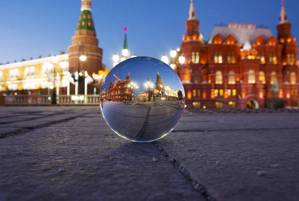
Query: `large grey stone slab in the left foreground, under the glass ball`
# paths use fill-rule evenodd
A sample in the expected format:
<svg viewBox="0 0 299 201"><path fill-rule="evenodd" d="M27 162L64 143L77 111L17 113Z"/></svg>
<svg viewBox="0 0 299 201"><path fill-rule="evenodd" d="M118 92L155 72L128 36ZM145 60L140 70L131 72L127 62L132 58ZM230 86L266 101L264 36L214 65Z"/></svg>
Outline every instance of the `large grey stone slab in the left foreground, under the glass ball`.
<svg viewBox="0 0 299 201"><path fill-rule="evenodd" d="M1 139L0 170L2 200L205 200L152 143L132 143L107 125Z"/></svg>

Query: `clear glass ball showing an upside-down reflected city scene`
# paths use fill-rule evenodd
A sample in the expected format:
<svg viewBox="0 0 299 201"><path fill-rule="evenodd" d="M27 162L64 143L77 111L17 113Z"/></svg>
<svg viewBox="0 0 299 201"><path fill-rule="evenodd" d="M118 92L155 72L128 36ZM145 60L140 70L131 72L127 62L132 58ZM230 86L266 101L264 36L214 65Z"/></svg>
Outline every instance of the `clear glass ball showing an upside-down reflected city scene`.
<svg viewBox="0 0 299 201"><path fill-rule="evenodd" d="M100 90L103 117L119 136L151 142L170 133L182 117L185 92L174 70L150 57L116 65Z"/></svg>

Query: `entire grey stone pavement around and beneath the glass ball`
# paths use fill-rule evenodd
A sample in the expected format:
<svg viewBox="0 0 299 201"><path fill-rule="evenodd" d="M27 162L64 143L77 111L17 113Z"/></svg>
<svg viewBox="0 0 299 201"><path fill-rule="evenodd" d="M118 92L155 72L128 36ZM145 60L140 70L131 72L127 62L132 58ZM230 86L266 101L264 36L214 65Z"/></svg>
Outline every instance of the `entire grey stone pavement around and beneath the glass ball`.
<svg viewBox="0 0 299 201"><path fill-rule="evenodd" d="M0 107L0 201L297 201L298 120L186 110L163 139L133 143L99 107Z"/></svg>

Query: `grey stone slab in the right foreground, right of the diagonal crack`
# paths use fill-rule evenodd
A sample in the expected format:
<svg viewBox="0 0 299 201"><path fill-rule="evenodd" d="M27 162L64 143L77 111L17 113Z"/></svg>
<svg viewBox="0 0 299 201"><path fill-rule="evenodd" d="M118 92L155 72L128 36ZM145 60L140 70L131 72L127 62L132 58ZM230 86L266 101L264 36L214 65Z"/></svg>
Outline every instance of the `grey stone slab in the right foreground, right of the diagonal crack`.
<svg viewBox="0 0 299 201"><path fill-rule="evenodd" d="M298 132L170 133L158 145L217 200L297 201Z"/></svg>

